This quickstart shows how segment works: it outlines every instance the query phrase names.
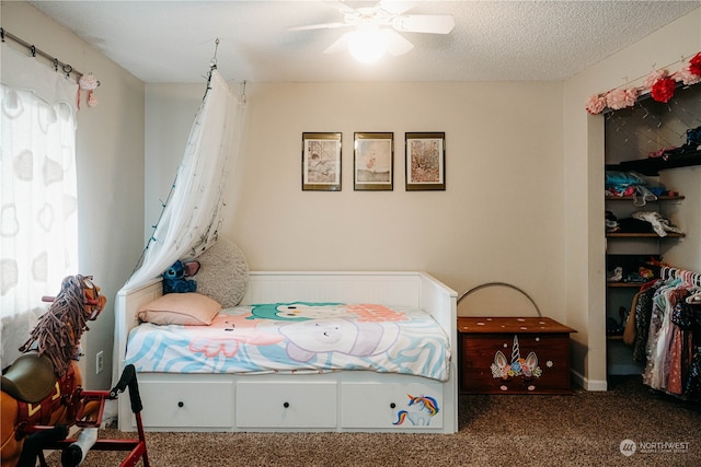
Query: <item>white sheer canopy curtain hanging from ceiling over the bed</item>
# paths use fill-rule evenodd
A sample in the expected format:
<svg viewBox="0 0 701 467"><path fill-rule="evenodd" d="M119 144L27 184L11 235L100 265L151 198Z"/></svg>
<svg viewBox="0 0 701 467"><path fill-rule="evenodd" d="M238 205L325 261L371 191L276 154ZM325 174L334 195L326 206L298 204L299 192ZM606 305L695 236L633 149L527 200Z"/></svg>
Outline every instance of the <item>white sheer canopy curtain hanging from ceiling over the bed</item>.
<svg viewBox="0 0 701 467"><path fill-rule="evenodd" d="M195 258L216 242L225 184L238 160L244 109L243 98L212 70L143 262L124 289L159 277L175 260Z"/></svg>

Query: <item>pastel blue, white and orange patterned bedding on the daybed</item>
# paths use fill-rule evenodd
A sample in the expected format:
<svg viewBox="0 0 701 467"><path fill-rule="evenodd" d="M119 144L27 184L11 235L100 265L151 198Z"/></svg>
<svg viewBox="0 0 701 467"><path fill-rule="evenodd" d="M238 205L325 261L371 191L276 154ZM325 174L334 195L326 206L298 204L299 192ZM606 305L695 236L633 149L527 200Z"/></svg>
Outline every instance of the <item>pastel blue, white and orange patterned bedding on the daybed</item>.
<svg viewBox="0 0 701 467"><path fill-rule="evenodd" d="M449 377L448 336L427 313L378 304L275 303L222 310L210 326L142 323L126 363L138 372L324 373Z"/></svg>

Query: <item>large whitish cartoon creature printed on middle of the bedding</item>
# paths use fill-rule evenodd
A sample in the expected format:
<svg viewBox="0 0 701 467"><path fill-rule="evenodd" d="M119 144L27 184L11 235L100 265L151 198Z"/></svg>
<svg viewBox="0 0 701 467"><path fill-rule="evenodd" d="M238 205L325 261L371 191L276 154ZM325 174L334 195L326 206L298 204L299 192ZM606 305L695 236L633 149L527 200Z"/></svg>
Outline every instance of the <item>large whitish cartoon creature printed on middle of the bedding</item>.
<svg viewBox="0 0 701 467"><path fill-rule="evenodd" d="M298 362L327 352L375 355L386 352L399 336L399 327L392 322L371 323L346 318L289 323L281 325L279 330L288 339L287 354Z"/></svg>

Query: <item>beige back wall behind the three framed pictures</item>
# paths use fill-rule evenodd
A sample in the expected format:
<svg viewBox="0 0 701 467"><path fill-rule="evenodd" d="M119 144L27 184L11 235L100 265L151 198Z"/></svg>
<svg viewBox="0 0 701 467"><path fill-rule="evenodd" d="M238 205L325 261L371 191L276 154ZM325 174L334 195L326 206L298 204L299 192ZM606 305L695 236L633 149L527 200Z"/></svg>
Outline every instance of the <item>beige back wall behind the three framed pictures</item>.
<svg viewBox="0 0 701 467"><path fill-rule="evenodd" d="M165 137L187 135L204 84L146 89L152 225L182 155ZM223 234L252 269L421 269L458 292L504 281L566 318L561 83L248 83L246 96ZM301 190L304 131L343 133L341 192ZM354 191L354 131L394 133L393 191ZM446 132L446 191L405 191L406 131ZM460 311L535 313L509 291Z"/></svg>

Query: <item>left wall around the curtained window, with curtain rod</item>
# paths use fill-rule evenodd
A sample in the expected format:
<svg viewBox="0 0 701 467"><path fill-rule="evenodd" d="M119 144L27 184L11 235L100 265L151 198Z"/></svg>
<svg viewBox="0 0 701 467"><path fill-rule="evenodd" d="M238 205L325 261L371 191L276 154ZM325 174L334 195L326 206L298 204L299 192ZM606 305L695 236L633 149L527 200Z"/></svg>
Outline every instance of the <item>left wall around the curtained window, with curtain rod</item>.
<svg viewBox="0 0 701 467"><path fill-rule="evenodd" d="M106 389L112 380L114 297L143 245L143 83L28 3L3 1L0 14L8 32L79 71L92 71L101 82L95 92L100 104L83 105L78 113L80 270L73 273L93 275L108 300L84 335L81 361L85 386ZM101 350L105 370L96 375L95 354Z"/></svg>

